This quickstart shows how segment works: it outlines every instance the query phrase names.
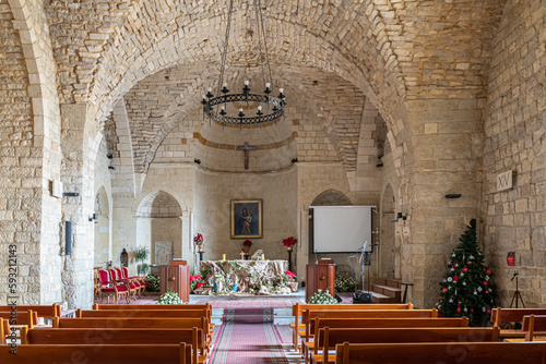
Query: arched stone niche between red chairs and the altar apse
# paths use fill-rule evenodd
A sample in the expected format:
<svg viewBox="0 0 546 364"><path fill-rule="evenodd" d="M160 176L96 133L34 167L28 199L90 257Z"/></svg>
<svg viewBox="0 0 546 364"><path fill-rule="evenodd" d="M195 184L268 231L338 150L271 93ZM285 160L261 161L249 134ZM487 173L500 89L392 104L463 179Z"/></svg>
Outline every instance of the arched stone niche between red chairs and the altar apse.
<svg viewBox="0 0 546 364"><path fill-rule="evenodd" d="M138 209L136 247L150 252L151 272L158 274L161 265L182 256L182 209L167 192L146 196Z"/></svg>

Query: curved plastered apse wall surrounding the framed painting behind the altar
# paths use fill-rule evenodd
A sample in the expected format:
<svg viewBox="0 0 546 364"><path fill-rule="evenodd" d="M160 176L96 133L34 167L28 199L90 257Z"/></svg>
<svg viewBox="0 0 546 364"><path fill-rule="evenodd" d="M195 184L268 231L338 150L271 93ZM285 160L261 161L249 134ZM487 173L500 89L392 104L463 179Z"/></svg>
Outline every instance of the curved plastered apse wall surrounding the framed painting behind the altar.
<svg viewBox="0 0 546 364"><path fill-rule="evenodd" d="M202 233L205 259L239 259L245 239L230 238L230 201L262 199L263 238L252 239L250 254L261 248L266 259L287 259L283 239L297 235L295 168L270 173L223 173L195 170L194 233Z"/></svg>

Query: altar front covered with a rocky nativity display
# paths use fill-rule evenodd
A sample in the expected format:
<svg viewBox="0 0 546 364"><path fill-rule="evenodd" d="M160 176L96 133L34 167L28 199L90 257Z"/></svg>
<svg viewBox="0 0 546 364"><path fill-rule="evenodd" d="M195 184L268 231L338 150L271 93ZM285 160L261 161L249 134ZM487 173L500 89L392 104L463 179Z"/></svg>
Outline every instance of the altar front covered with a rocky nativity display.
<svg viewBox="0 0 546 364"><path fill-rule="evenodd" d="M203 260L205 294L289 294L286 260Z"/></svg>

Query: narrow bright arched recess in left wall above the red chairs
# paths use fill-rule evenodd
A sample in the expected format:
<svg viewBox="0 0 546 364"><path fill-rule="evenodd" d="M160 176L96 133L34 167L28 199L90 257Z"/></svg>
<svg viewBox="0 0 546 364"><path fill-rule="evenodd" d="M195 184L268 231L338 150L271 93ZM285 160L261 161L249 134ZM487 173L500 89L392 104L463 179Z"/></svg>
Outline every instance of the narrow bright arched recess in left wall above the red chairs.
<svg viewBox="0 0 546 364"><path fill-rule="evenodd" d="M102 186L95 196L95 254L94 267L106 268L111 260L110 204L106 189Z"/></svg>

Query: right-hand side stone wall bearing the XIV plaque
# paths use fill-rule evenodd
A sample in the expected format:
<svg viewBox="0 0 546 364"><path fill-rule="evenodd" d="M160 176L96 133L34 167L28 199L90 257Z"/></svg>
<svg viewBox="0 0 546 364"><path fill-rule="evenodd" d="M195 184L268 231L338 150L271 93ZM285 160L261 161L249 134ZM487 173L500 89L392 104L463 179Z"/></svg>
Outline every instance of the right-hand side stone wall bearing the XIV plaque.
<svg viewBox="0 0 546 364"><path fill-rule="evenodd" d="M507 1L496 32L485 121L483 245L499 303L510 303L520 272L527 307L546 306L546 7ZM512 171L513 189L497 190ZM507 255L515 252L515 267Z"/></svg>

